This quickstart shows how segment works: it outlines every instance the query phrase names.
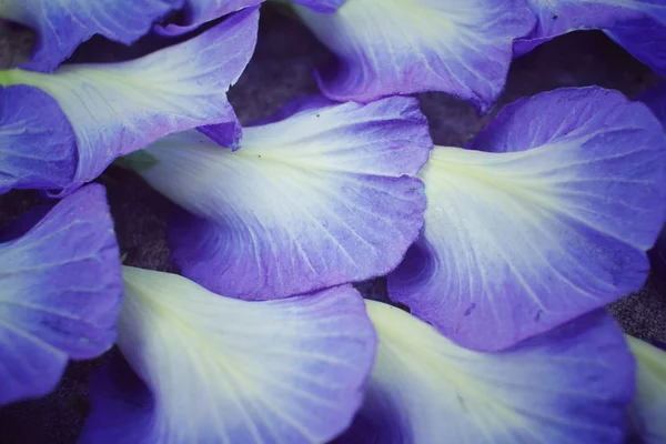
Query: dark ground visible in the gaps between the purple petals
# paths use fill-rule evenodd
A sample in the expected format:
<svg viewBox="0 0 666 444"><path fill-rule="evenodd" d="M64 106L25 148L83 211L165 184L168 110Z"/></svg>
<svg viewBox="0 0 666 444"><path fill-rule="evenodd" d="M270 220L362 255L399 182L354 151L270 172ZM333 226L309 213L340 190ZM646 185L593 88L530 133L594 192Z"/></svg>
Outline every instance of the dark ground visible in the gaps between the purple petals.
<svg viewBox="0 0 666 444"><path fill-rule="evenodd" d="M74 54L74 61L127 59L174 40L145 38L131 49L93 38ZM0 24L0 68L29 54L32 34ZM331 60L329 51L303 27L263 7L256 52L239 83L229 94L242 123L274 113L286 101L316 93L312 70ZM659 82L648 68L632 58L602 32L574 32L557 38L514 61L500 103L487 117L444 93L418 94L436 144L462 147L503 104L561 87L598 84L633 98ZM175 271L165 241L171 204L133 174L111 168L99 182L107 185L115 229L125 263L147 269ZM36 192L0 195L0 224L40 201ZM384 280L360 284L374 299L385 299ZM609 306L623 329L635 336L666 341L666 280L653 272L640 292ZM89 411L91 372L111 353L89 362L72 363L51 395L0 407L0 444L72 444ZM2 382L0 381L0 384Z"/></svg>

